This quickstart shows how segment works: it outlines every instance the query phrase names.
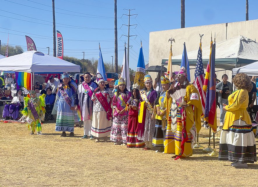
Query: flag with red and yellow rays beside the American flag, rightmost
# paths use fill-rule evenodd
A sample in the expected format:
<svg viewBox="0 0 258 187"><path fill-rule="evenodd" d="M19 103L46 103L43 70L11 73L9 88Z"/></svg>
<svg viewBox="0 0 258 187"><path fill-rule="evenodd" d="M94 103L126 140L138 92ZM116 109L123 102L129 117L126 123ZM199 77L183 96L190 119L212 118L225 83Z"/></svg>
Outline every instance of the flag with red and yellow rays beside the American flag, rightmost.
<svg viewBox="0 0 258 187"><path fill-rule="evenodd" d="M215 45L210 42L210 60L207 65L203 90L206 92L204 120L214 132L217 131Z"/></svg>

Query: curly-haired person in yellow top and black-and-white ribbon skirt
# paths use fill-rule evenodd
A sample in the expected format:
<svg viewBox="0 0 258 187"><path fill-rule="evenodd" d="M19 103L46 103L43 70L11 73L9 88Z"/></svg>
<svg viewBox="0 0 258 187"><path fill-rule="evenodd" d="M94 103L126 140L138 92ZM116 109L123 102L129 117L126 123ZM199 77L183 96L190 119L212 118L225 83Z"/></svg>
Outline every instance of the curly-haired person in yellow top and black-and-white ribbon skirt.
<svg viewBox="0 0 258 187"><path fill-rule="evenodd" d="M256 162L256 147L248 107L248 91L252 90L250 78L238 73L233 79L237 91L229 95L224 125L219 141L219 160L228 160L233 167L247 167Z"/></svg>

